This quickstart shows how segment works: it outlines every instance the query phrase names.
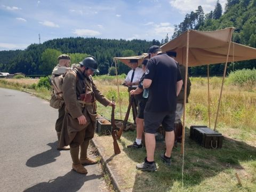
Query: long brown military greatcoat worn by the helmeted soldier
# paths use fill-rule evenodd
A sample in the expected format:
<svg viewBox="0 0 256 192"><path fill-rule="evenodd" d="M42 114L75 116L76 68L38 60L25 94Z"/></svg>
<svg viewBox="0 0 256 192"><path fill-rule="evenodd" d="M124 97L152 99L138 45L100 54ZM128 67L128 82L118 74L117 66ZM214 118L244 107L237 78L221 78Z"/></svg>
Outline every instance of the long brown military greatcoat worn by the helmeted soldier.
<svg viewBox="0 0 256 192"><path fill-rule="evenodd" d="M92 139L95 128L96 104L95 102L86 103L79 102L78 98L84 93L84 90L93 91L94 97L103 106L108 106L108 100L93 83L91 75L84 76L79 67L68 71L63 78L62 92L63 99L66 104L65 117L62 124L61 138L59 147L68 146L80 132L85 131L84 140ZM77 117L84 115L86 118L85 125L79 125ZM83 141L79 140L79 144Z"/></svg>

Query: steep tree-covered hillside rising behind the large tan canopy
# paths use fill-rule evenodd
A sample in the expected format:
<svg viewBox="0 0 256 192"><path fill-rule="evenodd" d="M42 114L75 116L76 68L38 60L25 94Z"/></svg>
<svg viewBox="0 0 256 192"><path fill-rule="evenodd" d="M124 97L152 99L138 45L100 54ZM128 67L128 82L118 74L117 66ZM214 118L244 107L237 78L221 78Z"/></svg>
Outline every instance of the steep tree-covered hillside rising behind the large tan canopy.
<svg viewBox="0 0 256 192"><path fill-rule="evenodd" d="M203 7L186 14L185 19L179 25L175 25L172 38L182 34L187 29L217 30L227 27L235 27L232 41L256 48L256 0L228 0L225 7L221 7L217 1L214 10L204 14ZM162 42L161 42L162 43ZM242 68L256 68L256 60L235 62L229 64L230 70ZM223 73L223 65L210 65L210 74ZM206 66L192 67L190 75L205 75Z"/></svg>

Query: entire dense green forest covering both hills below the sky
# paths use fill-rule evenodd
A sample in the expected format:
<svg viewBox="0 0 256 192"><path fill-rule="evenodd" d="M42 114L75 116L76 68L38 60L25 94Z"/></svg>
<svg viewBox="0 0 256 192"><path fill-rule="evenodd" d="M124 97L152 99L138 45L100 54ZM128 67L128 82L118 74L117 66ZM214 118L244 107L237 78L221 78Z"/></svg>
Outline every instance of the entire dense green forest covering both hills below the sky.
<svg viewBox="0 0 256 192"><path fill-rule="evenodd" d="M233 41L247 46L256 47L256 0L228 0L222 7L219 0L214 10L204 14L203 7L186 14L179 25L175 25L174 34L168 34L162 41L134 39L99 39L70 37L46 41L43 44L31 44L24 51L0 51L0 71L9 73L25 73L26 75L49 75L57 64L61 53L71 56L71 63L81 61L86 55L93 55L99 61L100 74L107 74L113 65L113 57L127 57L147 52L151 45L162 45L179 36L188 29L217 30L235 27ZM118 73L127 73L129 68L122 63L118 65ZM211 75L221 75L223 63L210 65ZM255 68L256 60L229 63L228 73L242 68ZM205 75L206 66L190 67L189 74Z"/></svg>

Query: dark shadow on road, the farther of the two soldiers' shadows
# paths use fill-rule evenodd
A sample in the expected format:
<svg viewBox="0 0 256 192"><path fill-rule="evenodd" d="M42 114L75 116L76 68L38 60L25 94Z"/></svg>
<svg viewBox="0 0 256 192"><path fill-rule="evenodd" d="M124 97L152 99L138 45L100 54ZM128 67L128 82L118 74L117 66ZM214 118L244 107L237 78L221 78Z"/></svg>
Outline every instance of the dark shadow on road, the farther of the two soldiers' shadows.
<svg viewBox="0 0 256 192"><path fill-rule="evenodd" d="M38 167L45 164L49 164L56 161L56 157L60 156L60 151L57 150L58 141L53 143L48 143L47 145L51 147L50 150L44 151L41 154L37 154L30 157L26 163L29 167Z"/></svg>

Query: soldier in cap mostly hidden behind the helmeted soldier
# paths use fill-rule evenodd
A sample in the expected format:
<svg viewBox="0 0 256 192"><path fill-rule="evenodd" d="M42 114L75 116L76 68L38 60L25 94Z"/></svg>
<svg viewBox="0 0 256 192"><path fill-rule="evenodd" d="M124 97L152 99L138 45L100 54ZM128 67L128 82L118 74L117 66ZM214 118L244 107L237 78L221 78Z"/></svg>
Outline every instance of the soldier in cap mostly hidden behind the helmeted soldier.
<svg viewBox="0 0 256 192"><path fill-rule="evenodd" d="M68 70L69 66L70 66L70 60L71 58L69 57L69 55L66 54L61 54L58 57L59 63L56 67L54 67L54 69L52 70L52 79L54 79L55 77L58 77L60 75L62 75L60 73L60 70L58 69L65 69ZM62 71L65 71L62 70ZM62 101L63 102L63 101ZM58 143L60 141L60 133L61 133L61 127L62 127L62 122L63 122L63 118L65 115L65 103L62 103L62 106L58 109L59 115L58 115L58 119L55 123L55 130L57 132L57 137L58 137ZM58 150L69 150L69 146L64 146L64 147L58 147Z"/></svg>

